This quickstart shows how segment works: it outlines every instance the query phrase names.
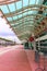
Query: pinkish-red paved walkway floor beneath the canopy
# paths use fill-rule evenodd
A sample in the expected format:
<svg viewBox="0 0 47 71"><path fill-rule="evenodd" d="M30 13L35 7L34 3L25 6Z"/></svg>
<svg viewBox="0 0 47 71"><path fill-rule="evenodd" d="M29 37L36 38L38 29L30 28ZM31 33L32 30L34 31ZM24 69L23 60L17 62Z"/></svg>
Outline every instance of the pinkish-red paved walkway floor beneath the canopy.
<svg viewBox="0 0 47 71"><path fill-rule="evenodd" d="M5 51L5 52L4 52ZM35 71L38 63L35 62L35 52L24 49L23 46L4 47L0 49L0 71ZM43 68L40 59L40 66Z"/></svg>

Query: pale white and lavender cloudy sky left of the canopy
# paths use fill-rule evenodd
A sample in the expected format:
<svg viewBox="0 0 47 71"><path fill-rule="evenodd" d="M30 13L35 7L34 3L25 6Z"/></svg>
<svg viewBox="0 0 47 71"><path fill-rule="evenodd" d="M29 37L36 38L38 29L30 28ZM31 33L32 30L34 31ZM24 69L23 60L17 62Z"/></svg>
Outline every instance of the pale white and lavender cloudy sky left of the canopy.
<svg viewBox="0 0 47 71"><path fill-rule="evenodd" d="M13 33L12 28L10 28L10 25L7 24L7 21L2 17L0 17L0 37L21 44L21 40Z"/></svg>

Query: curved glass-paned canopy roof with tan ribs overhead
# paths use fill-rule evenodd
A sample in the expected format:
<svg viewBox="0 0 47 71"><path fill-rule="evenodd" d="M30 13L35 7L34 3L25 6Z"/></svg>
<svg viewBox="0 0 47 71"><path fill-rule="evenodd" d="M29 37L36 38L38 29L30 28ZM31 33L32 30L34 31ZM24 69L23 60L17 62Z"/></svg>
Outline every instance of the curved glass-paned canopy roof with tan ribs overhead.
<svg viewBox="0 0 47 71"><path fill-rule="evenodd" d="M47 1L43 0L1 0L0 9L3 16L17 37L28 39L35 34L35 28L47 14Z"/></svg>

